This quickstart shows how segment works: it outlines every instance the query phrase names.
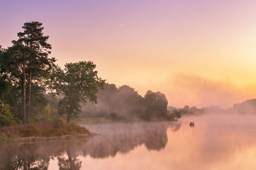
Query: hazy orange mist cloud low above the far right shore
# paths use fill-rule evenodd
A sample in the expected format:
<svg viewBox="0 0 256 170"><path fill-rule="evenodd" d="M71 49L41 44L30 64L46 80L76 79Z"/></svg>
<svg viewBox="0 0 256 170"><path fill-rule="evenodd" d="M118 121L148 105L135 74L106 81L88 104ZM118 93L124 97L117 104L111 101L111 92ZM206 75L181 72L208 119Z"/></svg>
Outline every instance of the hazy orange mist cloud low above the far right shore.
<svg viewBox="0 0 256 170"><path fill-rule="evenodd" d="M182 107L218 105L232 107L247 99L256 98L256 85L237 87L227 80L204 78L192 74L176 74L166 85L165 94L169 105Z"/></svg>

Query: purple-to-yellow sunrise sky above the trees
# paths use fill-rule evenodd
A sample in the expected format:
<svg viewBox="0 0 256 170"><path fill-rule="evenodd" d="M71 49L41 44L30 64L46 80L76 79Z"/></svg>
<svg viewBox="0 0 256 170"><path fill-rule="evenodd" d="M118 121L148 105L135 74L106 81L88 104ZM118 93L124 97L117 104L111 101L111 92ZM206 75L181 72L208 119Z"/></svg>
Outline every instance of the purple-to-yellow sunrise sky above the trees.
<svg viewBox="0 0 256 170"><path fill-rule="evenodd" d="M108 83L170 106L232 107L256 98L255 0L1 0L0 45L42 22L61 67L92 60Z"/></svg>

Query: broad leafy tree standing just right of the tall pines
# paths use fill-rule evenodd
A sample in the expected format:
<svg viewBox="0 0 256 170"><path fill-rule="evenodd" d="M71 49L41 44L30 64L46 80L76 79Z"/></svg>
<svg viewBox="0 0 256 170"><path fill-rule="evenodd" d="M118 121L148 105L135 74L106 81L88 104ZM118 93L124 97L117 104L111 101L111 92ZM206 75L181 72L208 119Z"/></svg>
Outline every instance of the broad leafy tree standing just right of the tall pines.
<svg viewBox="0 0 256 170"><path fill-rule="evenodd" d="M97 92L103 88L105 80L97 76L96 65L92 61L65 64L65 69L55 67L52 71L52 90L62 95L58 104L58 113L70 118L81 112L80 103L97 103Z"/></svg>

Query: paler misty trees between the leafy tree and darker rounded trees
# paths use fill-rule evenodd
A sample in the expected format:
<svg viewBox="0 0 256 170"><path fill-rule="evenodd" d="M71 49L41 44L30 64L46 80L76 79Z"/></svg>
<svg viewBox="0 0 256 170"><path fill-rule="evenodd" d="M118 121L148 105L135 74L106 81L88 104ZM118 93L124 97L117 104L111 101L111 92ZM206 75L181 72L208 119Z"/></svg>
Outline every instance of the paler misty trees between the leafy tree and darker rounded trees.
<svg viewBox="0 0 256 170"><path fill-rule="evenodd" d="M83 106L84 115L90 117L108 117L116 113L122 117L136 117L143 111L143 97L128 85L116 87L115 84L104 85L98 94L98 103Z"/></svg>

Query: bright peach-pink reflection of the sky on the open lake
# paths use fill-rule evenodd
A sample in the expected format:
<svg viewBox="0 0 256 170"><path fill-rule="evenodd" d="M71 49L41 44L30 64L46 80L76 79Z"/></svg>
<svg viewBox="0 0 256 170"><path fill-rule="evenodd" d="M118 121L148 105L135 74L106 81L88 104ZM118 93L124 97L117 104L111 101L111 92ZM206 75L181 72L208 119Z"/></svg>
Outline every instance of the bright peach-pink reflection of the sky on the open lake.
<svg viewBox="0 0 256 170"><path fill-rule="evenodd" d="M168 129L160 152L145 146L115 159L84 159L92 169L255 169L256 132L251 125L182 125ZM82 158L83 159L83 158Z"/></svg>

